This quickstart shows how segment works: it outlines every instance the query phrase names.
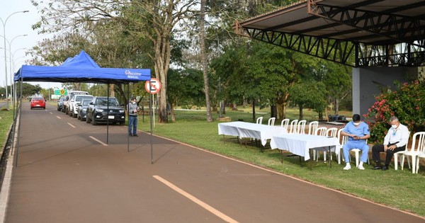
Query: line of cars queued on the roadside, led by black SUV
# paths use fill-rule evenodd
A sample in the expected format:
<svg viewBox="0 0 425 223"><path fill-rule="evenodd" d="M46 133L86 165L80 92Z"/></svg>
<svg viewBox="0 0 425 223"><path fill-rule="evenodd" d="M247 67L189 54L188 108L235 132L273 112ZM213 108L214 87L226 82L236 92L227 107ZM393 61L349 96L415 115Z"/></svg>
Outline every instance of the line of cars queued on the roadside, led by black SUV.
<svg viewBox="0 0 425 223"><path fill-rule="evenodd" d="M69 91L67 96L57 101L57 110L92 125L125 124L124 105L120 105L117 98L91 96L86 91Z"/></svg>

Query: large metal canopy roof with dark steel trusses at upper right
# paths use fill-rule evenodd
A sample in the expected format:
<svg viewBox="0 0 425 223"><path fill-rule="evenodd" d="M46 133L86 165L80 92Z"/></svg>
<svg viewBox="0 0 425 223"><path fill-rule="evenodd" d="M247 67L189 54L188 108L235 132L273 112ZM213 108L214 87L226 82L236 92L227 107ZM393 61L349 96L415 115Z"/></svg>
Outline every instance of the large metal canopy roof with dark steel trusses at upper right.
<svg viewBox="0 0 425 223"><path fill-rule="evenodd" d="M236 29L257 40L353 67L420 66L425 61L421 0L300 1L237 22ZM355 64L349 62L350 54L357 54Z"/></svg>

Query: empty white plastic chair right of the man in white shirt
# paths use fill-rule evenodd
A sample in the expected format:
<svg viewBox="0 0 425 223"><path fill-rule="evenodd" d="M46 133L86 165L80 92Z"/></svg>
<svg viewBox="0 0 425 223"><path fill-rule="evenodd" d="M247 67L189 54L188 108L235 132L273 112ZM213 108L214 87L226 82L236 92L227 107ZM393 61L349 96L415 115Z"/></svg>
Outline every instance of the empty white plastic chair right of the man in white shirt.
<svg viewBox="0 0 425 223"><path fill-rule="evenodd" d="M418 171L415 170L415 168L419 168L419 155L423 154L424 152L425 152L425 132L416 132L413 135L411 149L409 151L404 151L404 153L402 154L402 169L404 166L403 165L404 156L412 156L412 173L418 173ZM417 164L416 164L416 161L418 161Z"/></svg>

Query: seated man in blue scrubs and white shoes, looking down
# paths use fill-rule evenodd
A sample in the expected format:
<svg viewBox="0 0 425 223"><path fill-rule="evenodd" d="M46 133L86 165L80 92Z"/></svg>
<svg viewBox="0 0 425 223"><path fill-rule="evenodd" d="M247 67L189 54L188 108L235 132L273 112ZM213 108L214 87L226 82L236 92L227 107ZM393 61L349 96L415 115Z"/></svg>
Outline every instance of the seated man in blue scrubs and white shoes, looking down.
<svg viewBox="0 0 425 223"><path fill-rule="evenodd" d="M351 168L350 165L350 150L351 149L361 149L360 164L358 164L358 169L364 170L363 163L368 161L368 152L369 146L366 144L366 139L370 138L369 126L365 122L361 122L360 115L354 114L353 121L348 122L347 125L342 130L341 135L347 136L348 141L342 147L344 151L344 159L346 161L346 166L344 170L348 171Z"/></svg>

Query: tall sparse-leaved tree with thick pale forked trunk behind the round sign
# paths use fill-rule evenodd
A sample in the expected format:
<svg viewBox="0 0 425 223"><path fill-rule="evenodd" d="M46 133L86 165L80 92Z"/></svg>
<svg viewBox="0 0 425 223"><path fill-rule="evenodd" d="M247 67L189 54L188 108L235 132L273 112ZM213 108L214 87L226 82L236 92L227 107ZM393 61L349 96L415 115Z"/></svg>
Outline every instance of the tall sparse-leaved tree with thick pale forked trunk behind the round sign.
<svg viewBox="0 0 425 223"><path fill-rule="evenodd" d="M36 6L38 2L33 0ZM159 122L168 122L166 113L166 75L171 55L171 33L183 18L193 16L192 6L196 1L101 1L81 0L54 1L40 6L40 22L34 25L42 32L66 29L84 29L86 23L113 20L125 25L128 33L152 41L153 51L148 53L154 60L154 74L162 83L159 92Z"/></svg>

